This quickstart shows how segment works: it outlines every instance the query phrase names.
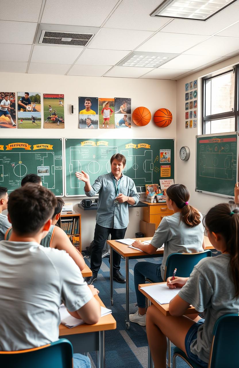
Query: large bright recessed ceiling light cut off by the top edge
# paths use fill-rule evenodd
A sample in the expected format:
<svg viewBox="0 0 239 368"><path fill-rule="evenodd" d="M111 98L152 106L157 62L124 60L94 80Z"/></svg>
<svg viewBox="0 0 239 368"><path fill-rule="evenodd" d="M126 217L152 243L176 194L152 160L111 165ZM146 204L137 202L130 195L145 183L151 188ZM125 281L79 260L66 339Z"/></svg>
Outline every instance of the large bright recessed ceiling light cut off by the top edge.
<svg viewBox="0 0 239 368"><path fill-rule="evenodd" d="M165 0L150 17L206 21L236 0Z"/></svg>

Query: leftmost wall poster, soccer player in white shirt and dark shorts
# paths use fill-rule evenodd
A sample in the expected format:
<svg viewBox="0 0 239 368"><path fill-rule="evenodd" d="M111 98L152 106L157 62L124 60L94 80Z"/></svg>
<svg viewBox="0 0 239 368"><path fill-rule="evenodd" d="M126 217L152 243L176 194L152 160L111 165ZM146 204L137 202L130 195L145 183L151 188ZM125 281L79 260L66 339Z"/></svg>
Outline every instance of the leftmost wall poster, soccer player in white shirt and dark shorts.
<svg viewBox="0 0 239 368"><path fill-rule="evenodd" d="M16 128L14 92L0 92L0 128Z"/></svg>

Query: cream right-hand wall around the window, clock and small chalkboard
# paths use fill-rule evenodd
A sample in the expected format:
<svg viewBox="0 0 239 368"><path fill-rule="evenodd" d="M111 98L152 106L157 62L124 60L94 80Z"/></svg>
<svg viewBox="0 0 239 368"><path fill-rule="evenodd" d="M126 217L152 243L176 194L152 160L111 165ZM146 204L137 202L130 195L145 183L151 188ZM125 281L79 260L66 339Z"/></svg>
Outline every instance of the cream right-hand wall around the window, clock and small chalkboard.
<svg viewBox="0 0 239 368"><path fill-rule="evenodd" d="M196 57L196 56L195 56ZM216 197L214 195L195 192L196 179L196 135L201 135L201 78L215 71L227 68L239 63L239 55L222 61L206 69L200 70L185 78L179 79L176 83L176 174L177 183L185 184L190 191L190 204L198 208L202 213L206 213L212 206L227 202L229 199ZM185 129L185 83L198 79L198 127ZM190 149L190 158L183 162L179 158L179 150L182 146Z"/></svg>

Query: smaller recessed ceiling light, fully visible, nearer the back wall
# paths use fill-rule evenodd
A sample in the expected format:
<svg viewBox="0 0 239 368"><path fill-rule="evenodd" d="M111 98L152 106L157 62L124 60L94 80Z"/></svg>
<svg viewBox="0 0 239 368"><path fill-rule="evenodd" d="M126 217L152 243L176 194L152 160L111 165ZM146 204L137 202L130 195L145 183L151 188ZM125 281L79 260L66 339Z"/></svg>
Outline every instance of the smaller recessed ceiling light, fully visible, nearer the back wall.
<svg viewBox="0 0 239 368"><path fill-rule="evenodd" d="M142 52L134 51L126 56L117 66L121 67L138 67L138 68L158 68L174 59L178 54L165 54L159 52Z"/></svg>

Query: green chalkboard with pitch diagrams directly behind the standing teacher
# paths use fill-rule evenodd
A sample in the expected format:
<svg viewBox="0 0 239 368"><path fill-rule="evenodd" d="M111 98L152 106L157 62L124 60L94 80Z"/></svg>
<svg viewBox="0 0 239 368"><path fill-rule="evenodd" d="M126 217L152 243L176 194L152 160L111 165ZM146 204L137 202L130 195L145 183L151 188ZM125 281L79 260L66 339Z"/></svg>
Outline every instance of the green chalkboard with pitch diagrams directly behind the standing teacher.
<svg viewBox="0 0 239 368"><path fill-rule="evenodd" d="M111 171L110 158L115 153L126 157L124 174L131 177L137 190L159 179L174 179L174 139L88 139L65 138L65 195L85 195L84 183L76 171L85 171L90 182Z"/></svg>

